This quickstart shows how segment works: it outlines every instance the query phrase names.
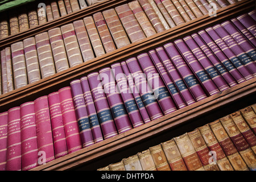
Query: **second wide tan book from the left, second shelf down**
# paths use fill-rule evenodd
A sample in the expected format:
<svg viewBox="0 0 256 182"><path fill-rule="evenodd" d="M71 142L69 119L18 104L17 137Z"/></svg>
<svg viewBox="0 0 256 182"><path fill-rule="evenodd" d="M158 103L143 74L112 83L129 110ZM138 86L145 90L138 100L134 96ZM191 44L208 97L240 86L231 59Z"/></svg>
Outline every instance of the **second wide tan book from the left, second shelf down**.
<svg viewBox="0 0 256 182"><path fill-rule="evenodd" d="M32 84L41 79L40 66L38 61L38 51L36 51L35 38L23 40L24 53L26 58L28 83Z"/></svg>

